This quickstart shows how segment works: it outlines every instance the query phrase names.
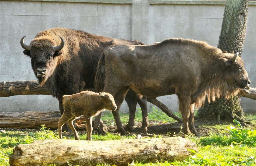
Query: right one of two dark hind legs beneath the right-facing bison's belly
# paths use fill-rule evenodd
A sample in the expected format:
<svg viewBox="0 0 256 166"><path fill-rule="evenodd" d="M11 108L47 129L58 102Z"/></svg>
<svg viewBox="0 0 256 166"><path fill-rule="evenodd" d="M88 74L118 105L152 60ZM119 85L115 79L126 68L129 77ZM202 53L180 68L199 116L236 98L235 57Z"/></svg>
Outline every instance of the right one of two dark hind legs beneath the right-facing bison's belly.
<svg viewBox="0 0 256 166"><path fill-rule="evenodd" d="M137 102L140 105L141 112L142 112L142 125L140 128L140 132L147 132L148 131L148 108L147 108L147 97L144 97L140 94L136 96Z"/></svg>

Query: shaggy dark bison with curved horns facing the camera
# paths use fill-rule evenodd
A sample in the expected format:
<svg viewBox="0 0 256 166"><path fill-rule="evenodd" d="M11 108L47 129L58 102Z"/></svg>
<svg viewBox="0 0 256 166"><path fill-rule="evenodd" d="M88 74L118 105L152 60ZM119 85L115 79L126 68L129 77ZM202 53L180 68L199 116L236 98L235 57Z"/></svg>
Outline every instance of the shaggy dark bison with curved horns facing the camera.
<svg viewBox="0 0 256 166"><path fill-rule="evenodd" d="M20 40L23 53L31 58L31 65L39 83L45 84L52 96L59 100L63 114L62 96L76 94L94 87L95 69L103 50L112 44L140 45L138 41L96 36L80 30L53 28L39 32L30 45ZM130 91L126 97L129 108L137 102L147 114L146 98ZM147 115L144 115L147 118ZM147 120L142 129L146 129ZM98 126L98 125L97 125ZM99 131L101 132L101 131Z"/></svg>

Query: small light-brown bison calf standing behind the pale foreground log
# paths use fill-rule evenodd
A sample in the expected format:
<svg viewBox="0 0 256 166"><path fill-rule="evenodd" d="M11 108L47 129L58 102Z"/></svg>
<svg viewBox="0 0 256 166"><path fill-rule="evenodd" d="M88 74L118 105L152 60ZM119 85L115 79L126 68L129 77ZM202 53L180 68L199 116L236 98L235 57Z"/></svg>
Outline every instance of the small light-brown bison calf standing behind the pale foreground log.
<svg viewBox="0 0 256 166"><path fill-rule="evenodd" d="M62 138L62 126L68 122L70 129L74 133L75 140L79 140L73 121L77 117L84 115L87 130L86 140L91 140L92 117L98 115L104 109L115 111L117 106L114 97L111 94L105 92L95 93L92 91L82 91L78 94L64 95L63 108L64 113L58 122L59 138Z"/></svg>

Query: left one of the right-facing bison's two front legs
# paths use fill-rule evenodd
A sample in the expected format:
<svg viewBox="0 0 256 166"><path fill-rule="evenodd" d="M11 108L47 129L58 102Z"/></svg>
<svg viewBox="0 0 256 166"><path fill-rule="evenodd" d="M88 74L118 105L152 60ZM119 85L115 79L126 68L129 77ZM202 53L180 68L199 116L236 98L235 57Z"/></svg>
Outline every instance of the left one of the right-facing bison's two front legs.
<svg viewBox="0 0 256 166"><path fill-rule="evenodd" d="M179 98L179 109L183 118L183 133L192 134L188 127L189 120L189 106L190 106L190 96L187 95L178 95Z"/></svg>

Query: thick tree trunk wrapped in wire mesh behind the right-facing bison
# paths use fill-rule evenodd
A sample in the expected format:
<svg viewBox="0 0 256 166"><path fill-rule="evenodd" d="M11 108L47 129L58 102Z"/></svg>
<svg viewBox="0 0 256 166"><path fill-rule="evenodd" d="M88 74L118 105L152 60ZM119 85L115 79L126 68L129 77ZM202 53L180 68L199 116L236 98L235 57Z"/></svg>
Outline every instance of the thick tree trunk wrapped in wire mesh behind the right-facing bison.
<svg viewBox="0 0 256 166"><path fill-rule="evenodd" d="M242 56L246 34L247 12L248 0L227 0L218 48L229 53L239 52L239 56ZM244 118L241 98L238 96L229 99L220 98L210 103L206 101L204 107L198 110L199 116L212 119L213 114L218 117L218 121L221 117L225 117L226 119L236 118L236 120L244 124L251 123Z"/></svg>

